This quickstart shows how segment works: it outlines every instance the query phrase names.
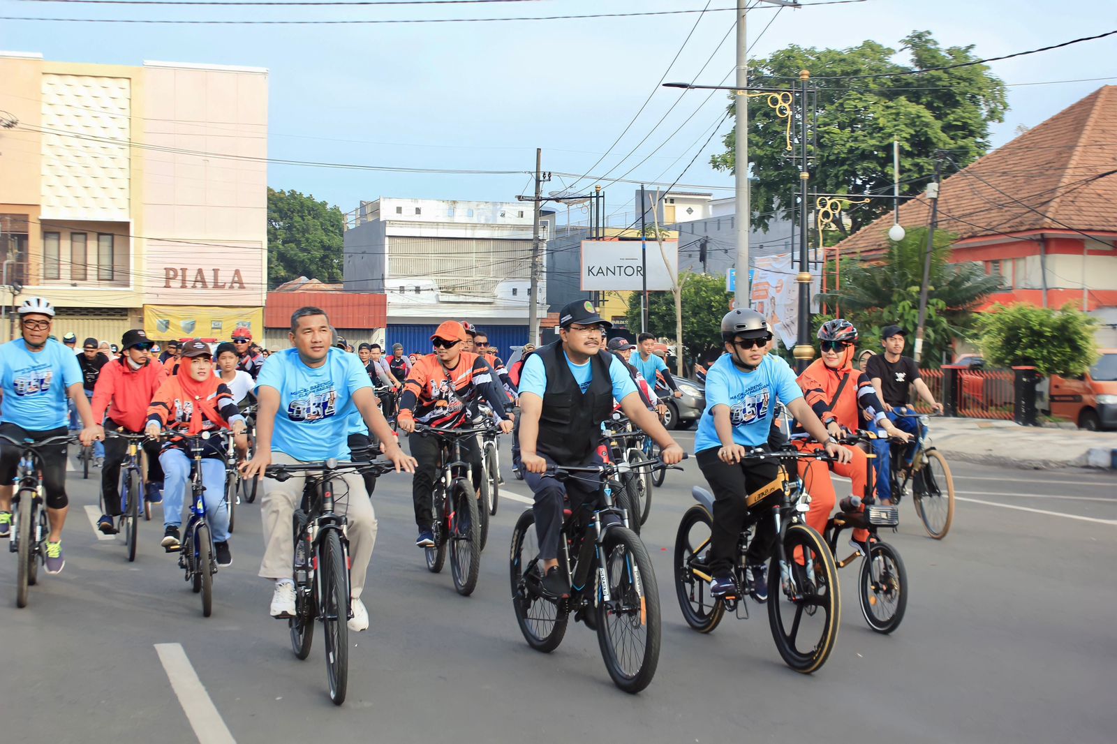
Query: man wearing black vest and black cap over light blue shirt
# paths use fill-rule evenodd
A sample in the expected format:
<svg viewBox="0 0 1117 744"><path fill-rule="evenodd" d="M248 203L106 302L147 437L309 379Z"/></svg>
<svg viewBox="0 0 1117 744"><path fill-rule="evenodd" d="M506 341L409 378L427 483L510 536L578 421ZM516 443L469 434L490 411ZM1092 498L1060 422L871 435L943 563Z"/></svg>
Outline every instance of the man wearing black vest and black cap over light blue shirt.
<svg viewBox="0 0 1117 744"><path fill-rule="evenodd" d="M563 498L569 497L576 511L596 498L598 488L575 479L560 481L546 475L547 466L601 461L601 422L612 416L614 398L624 414L662 448L665 462L680 461L682 448L645 408L623 363L604 351L605 332L612 324L603 321L592 304L566 305L558 314L558 325L560 341L538 349L524 363L518 439L525 480L535 494L535 532L546 572L543 586L564 598L570 595L570 584L558 569Z"/></svg>

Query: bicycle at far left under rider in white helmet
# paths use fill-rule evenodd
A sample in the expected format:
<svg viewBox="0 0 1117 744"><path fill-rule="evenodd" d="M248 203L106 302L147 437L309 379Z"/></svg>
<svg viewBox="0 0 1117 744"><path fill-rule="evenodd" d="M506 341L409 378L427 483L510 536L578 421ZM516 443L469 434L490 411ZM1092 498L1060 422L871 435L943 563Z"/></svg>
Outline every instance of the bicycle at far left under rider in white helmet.
<svg viewBox="0 0 1117 744"><path fill-rule="evenodd" d="M39 564L47 561L47 538L50 525L44 507L42 481L39 479L42 457L39 447L78 441L77 437L61 435L41 441L25 439L18 441L0 435L0 439L19 447L22 451L13 480L11 499L11 538L8 550L16 553L16 607L27 607L28 588L38 582Z"/></svg>

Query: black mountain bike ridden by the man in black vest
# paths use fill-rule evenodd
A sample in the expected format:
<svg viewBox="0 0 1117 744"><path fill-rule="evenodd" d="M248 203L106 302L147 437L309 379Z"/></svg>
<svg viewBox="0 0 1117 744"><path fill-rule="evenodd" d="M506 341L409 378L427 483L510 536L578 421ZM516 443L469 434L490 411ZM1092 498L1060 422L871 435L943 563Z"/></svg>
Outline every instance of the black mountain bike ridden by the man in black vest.
<svg viewBox="0 0 1117 744"><path fill-rule="evenodd" d="M671 466L665 466L671 467ZM628 509L613 502L622 489L615 476L630 470L624 460L589 467L552 466L560 479L594 477L596 499L564 509L558 566L572 588L566 599L543 588L535 512L528 507L512 532L512 603L527 645L550 654L566 635L571 612L598 633L598 645L613 684L636 694L651 684L659 664L660 611L656 572L640 537L630 528Z"/></svg>

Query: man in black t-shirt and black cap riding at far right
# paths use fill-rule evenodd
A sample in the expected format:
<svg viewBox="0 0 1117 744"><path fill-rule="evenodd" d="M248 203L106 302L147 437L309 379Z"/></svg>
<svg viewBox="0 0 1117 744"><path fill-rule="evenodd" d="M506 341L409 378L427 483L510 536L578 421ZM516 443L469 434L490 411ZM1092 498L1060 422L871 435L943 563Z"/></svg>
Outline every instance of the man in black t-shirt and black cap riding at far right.
<svg viewBox="0 0 1117 744"><path fill-rule="evenodd" d="M910 356L904 356L904 344L907 341L907 331L898 325L887 325L880 332L880 345L885 347L884 354L870 357L865 365L866 374L872 381L872 387L877 389L885 406L885 416L896 425L897 429L911 435L919 435L919 419L916 418L915 409L908 408L908 389L915 385L915 391L933 411L943 412L943 404L935 402L927 383L919 376L919 365ZM892 486L889 477L891 467L891 448L887 439L878 439L872 442L872 448L877 454L877 496L882 504L891 504ZM915 439L905 450L905 464L911 462L911 455L915 452Z"/></svg>

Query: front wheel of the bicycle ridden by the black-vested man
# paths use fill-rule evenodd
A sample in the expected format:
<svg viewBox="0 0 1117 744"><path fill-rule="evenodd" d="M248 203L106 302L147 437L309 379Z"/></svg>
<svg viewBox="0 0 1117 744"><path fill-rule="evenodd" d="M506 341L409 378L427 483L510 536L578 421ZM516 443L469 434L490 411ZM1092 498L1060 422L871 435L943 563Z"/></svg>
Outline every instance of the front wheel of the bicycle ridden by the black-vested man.
<svg viewBox="0 0 1117 744"><path fill-rule="evenodd" d="M631 530L604 538L607 585L598 595L598 642L613 684L639 693L659 665L659 591L643 543Z"/></svg>

